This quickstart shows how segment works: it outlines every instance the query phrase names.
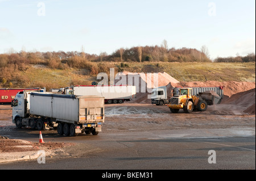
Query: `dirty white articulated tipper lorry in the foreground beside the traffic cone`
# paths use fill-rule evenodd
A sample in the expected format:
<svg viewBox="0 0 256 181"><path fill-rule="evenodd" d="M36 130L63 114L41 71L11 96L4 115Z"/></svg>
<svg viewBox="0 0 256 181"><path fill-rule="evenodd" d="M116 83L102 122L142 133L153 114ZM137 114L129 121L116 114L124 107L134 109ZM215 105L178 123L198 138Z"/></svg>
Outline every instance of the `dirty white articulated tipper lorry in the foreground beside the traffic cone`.
<svg viewBox="0 0 256 181"><path fill-rule="evenodd" d="M13 103L13 123L16 127L57 128L64 136L78 133L97 135L104 123L104 98L49 92L22 91Z"/></svg>

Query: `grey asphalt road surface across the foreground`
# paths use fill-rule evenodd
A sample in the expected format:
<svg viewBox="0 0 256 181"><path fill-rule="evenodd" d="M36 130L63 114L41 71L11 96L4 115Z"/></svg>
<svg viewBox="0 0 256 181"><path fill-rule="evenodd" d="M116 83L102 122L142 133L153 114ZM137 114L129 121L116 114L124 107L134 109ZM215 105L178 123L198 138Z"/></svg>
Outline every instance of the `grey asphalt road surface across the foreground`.
<svg viewBox="0 0 256 181"><path fill-rule="evenodd" d="M12 128L16 129L16 128ZM255 130L254 130L255 131ZM0 169L255 169L255 136L228 134L228 129L190 129L152 132L100 133L61 137L43 131L44 141L75 142L65 154L37 160L4 163ZM38 131L7 131L10 138L38 141ZM225 134L226 133L226 134ZM213 154L216 153L216 163Z"/></svg>

